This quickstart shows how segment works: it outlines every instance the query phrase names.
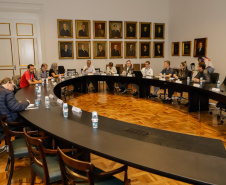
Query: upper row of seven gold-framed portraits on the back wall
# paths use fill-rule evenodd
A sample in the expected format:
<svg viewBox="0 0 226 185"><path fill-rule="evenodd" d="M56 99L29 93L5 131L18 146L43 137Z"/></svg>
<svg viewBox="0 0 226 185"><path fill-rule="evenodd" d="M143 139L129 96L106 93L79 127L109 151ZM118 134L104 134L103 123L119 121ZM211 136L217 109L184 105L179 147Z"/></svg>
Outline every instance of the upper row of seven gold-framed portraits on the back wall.
<svg viewBox="0 0 226 185"><path fill-rule="evenodd" d="M58 38L73 38L73 20L57 19ZM91 27L90 20L75 20L75 35L77 39L90 39ZM124 22L124 36L125 39L137 39L138 28L137 22ZM152 38L152 23L139 22L139 38ZM93 21L93 38L107 39L107 32L109 31L110 39L123 38L123 21L109 21L109 30L107 30L107 21ZM154 39L165 38L165 24L154 23Z"/></svg>

